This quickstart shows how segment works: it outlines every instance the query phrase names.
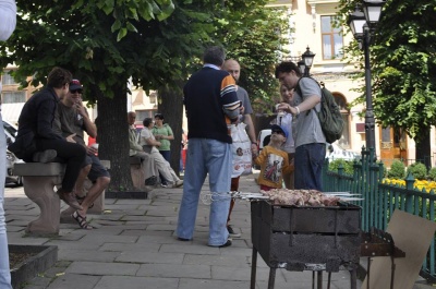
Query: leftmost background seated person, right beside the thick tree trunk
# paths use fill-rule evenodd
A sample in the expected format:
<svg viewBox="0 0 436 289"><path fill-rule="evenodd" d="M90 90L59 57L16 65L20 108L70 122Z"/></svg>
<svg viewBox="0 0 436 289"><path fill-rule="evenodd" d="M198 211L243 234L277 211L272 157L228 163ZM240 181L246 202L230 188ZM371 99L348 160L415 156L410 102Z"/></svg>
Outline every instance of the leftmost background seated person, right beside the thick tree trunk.
<svg viewBox="0 0 436 289"><path fill-rule="evenodd" d="M142 169L145 177L145 185L155 185L157 182L158 172L155 167L155 161L152 156L144 152L143 147L138 143L136 129L134 127L136 113L130 111L128 113L129 122L129 146L131 157L140 157L142 159Z"/></svg>

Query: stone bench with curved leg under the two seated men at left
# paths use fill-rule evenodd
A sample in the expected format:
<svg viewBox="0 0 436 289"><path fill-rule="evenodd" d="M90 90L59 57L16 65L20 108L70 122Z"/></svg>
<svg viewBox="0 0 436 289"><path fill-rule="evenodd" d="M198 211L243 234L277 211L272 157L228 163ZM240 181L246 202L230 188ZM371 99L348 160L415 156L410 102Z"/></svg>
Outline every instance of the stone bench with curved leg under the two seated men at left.
<svg viewBox="0 0 436 289"><path fill-rule="evenodd" d="M110 161L104 162L104 160L101 160L101 162L107 168L110 166ZM19 162L14 164L13 170L15 176L23 177L24 193L28 198L35 202L40 209L39 217L27 225L26 232L40 236L59 234L59 225L61 220L60 198L55 192L55 186L62 184L65 165L61 162ZM101 214L104 204L105 193L96 200L94 207L90 208L88 213ZM72 212L65 214L71 215ZM69 217L71 218L70 215Z"/></svg>

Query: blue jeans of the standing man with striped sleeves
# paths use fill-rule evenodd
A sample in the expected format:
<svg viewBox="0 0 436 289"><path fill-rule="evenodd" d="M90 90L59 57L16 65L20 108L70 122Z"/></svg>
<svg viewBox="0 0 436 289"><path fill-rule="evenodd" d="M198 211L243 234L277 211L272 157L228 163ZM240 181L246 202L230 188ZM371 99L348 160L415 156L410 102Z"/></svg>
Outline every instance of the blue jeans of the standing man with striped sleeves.
<svg viewBox="0 0 436 289"><path fill-rule="evenodd" d="M227 242L227 217L230 206L232 150L231 144L210 139L190 139L186 168L183 178L183 196L180 204L177 236L192 239L203 183L209 173L213 202L209 212L209 245Z"/></svg>

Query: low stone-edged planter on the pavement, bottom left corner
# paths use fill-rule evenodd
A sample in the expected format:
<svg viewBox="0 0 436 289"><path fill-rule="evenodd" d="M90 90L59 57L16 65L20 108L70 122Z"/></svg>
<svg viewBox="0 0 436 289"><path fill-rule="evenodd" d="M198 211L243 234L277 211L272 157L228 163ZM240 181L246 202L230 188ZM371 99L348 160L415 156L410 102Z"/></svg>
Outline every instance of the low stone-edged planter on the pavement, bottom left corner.
<svg viewBox="0 0 436 289"><path fill-rule="evenodd" d="M12 288L20 288L20 285L45 272L58 261L57 245L9 245L10 254L32 253L33 256L11 267Z"/></svg>

